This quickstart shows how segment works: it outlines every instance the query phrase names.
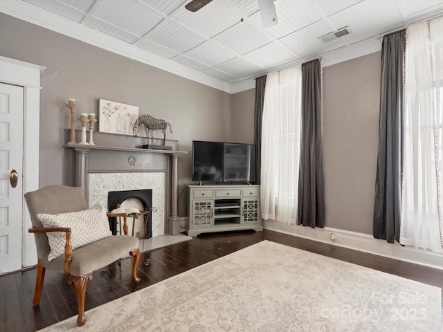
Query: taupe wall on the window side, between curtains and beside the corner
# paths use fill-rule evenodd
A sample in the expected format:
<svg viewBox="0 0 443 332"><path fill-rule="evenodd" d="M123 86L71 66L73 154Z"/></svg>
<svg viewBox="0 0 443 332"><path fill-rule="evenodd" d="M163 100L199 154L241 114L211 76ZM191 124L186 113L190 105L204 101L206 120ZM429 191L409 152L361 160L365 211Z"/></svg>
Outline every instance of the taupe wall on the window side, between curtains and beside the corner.
<svg viewBox="0 0 443 332"><path fill-rule="evenodd" d="M326 226L372 234L380 93L379 52L323 68ZM231 102L232 137L253 140L255 89ZM249 114L247 114L249 112Z"/></svg>

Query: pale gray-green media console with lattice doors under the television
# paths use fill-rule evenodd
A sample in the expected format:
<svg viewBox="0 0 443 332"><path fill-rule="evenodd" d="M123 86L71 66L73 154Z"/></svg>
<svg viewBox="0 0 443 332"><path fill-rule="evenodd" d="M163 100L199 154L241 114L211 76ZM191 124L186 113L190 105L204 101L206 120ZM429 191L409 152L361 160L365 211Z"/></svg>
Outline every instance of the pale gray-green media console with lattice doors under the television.
<svg viewBox="0 0 443 332"><path fill-rule="evenodd" d="M207 232L263 230L260 185L189 185L190 237Z"/></svg>

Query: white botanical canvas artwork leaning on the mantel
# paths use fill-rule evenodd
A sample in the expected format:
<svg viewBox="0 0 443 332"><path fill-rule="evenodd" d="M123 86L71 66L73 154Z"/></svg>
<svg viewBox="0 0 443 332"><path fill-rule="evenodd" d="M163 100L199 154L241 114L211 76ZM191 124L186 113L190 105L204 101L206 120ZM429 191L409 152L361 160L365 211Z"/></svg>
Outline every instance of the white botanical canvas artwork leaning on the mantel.
<svg viewBox="0 0 443 332"><path fill-rule="evenodd" d="M133 135L138 107L100 99L98 103L98 131Z"/></svg>

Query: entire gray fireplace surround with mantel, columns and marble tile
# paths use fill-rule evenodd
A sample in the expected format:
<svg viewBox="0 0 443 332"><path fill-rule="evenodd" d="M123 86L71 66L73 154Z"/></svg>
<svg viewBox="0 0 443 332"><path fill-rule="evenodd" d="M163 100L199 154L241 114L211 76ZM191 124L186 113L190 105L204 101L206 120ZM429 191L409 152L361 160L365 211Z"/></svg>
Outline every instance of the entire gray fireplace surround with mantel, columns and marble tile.
<svg viewBox="0 0 443 332"><path fill-rule="evenodd" d="M152 189L152 206L157 208L152 214L152 237L172 234L180 222L178 158L188 151L135 148L134 140L141 145L142 139L97 133L96 145L64 145L64 184L82 187L89 205L105 206L108 192Z"/></svg>

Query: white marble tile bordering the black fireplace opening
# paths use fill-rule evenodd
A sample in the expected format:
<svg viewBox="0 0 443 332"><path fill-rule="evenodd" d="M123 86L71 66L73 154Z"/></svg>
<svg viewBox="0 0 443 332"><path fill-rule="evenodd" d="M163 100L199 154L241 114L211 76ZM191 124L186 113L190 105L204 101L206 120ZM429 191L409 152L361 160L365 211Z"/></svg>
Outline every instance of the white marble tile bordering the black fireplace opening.
<svg viewBox="0 0 443 332"><path fill-rule="evenodd" d="M108 192L152 189L152 237L165 234L165 172L89 173L89 205L108 203Z"/></svg>

